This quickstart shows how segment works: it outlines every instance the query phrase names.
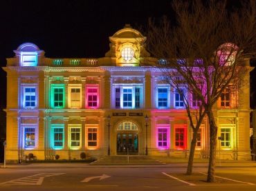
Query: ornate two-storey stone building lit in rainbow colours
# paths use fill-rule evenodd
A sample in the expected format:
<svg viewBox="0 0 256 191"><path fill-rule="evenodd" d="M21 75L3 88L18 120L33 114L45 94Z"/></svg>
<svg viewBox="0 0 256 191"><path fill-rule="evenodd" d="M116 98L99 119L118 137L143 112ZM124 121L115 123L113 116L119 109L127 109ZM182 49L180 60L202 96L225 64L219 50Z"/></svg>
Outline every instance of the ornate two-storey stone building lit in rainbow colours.
<svg viewBox="0 0 256 191"><path fill-rule="evenodd" d="M33 43L19 46L3 68L8 161L29 153L42 160L56 154L80 159L81 152L99 157L108 154L108 145L111 155L127 149L143 155L147 145L150 156L188 157L192 129L183 98L152 67L166 61L150 58L145 39L127 25L109 37L110 50L98 59L51 59ZM237 93L226 89L214 105L221 159L250 159L249 92L249 85ZM196 98L188 96L196 108ZM208 134L205 119L195 157L208 157Z"/></svg>

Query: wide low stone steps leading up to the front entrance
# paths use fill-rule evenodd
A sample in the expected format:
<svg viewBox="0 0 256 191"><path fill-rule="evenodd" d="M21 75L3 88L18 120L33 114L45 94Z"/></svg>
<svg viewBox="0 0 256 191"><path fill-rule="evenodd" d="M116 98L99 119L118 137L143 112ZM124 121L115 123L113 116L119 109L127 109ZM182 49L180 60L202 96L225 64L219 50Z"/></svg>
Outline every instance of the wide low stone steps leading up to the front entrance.
<svg viewBox="0 0 256 191"><path fill-rule="evenodd" d="M158 161L145 155L117 155L106 156L93 161L90 165L163 165Z"/></svg>

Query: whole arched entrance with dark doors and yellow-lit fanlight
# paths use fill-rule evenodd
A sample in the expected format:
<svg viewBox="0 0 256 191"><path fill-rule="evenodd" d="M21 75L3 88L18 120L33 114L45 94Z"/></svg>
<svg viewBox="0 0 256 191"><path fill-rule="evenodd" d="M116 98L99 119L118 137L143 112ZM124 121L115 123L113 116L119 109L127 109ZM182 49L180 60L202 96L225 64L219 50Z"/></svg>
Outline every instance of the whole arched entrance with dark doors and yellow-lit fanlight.
<svg viewBox="0 0 256 191"><path fill-rule="evenodd" d="M116 139L117 154L138 154L138 126L131 121L120 123Z"/></svg>

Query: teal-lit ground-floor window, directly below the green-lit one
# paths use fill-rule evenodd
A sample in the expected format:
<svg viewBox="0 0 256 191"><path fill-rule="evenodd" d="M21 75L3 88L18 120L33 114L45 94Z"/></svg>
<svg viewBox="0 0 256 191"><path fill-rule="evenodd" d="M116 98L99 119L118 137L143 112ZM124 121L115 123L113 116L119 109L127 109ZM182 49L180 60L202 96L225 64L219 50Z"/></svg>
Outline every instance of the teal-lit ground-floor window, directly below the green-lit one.
<svg viewBox="0 0 256 191"><path fill-rule="evenodd" d="M64 127L63 125L52 128L53 133L53 148L62 149L64 147Z"/></svg>

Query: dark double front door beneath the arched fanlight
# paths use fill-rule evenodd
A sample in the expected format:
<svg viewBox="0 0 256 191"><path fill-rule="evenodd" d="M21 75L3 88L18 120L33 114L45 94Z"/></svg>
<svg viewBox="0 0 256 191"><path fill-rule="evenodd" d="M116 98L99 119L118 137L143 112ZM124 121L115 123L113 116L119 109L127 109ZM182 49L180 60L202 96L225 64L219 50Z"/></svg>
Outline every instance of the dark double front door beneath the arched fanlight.
<svg viewBox="0 0 256 191"><path fill-rule="evenodd" d="M117 154L138 154L138 133L118 132Z"/></svg>

